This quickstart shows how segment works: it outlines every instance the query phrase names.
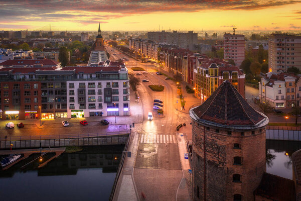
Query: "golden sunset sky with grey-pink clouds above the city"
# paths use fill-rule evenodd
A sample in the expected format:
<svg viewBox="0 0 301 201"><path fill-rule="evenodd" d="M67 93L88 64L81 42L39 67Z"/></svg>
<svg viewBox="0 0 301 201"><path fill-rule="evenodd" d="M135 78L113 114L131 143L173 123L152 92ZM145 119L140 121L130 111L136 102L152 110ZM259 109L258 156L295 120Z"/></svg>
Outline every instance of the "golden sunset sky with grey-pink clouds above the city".
<svg viewBox="0 0 301 201"><path fill-rule="evenodd" d="M301 0L0 0L0 30L301 31Z"/></svg>

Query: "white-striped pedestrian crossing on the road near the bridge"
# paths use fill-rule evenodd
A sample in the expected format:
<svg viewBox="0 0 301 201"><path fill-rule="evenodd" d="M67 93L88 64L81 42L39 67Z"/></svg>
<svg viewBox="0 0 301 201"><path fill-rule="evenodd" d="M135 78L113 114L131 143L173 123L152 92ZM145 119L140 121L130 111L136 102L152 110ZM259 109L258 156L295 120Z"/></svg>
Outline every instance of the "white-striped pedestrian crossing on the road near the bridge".
<svg viewBox="0 0 301 201"><path fill-rule="evenodd" d="M157 134L141 134L140 143L157 143L157 144L176 144L175 135L157 135Z"/></svg>

